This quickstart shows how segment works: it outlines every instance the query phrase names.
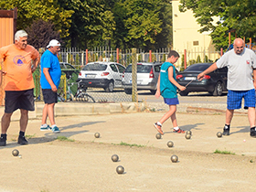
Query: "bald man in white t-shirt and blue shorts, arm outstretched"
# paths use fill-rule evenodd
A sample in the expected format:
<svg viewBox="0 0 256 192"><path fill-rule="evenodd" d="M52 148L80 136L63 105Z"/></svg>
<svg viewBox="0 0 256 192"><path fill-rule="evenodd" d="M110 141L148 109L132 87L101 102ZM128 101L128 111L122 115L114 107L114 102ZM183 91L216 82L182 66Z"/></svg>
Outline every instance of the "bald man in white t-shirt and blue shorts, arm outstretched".
<svg viewBox="0 0 256 192"><path fill-rule="evenodd" d="M198 80L215 69L228 67L228 106L226 111L226 123L223 135L229 135L230 123L234 110L241 108L242 98L244 109L248 109L248 118L251 126L250 135L256 137L255 128L255 89L256 80L256 54L249 48L244 48L244 41L241 38L234 40L234 48L225 53L217 62L208 69L201 72Z"/></svg>

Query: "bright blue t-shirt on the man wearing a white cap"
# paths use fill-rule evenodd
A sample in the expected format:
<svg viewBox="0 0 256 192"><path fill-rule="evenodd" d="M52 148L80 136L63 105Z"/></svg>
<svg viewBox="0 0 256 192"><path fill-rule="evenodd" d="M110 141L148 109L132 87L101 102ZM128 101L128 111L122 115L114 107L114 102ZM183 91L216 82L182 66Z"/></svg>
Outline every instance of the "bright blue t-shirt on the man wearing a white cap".
<svg viewBox="0 0 256 192"><path fill-rule="evenodd" d="M46 79L45 74L43 73L43 69L48 68L48 73L51 77L51 80L57 87L59 88L59 81L61 76L61 70L59 66L59 59L57 55L54 55L49 50L46 50L41 57L41 87L42 89L51 89L48 80Z"/></svg>

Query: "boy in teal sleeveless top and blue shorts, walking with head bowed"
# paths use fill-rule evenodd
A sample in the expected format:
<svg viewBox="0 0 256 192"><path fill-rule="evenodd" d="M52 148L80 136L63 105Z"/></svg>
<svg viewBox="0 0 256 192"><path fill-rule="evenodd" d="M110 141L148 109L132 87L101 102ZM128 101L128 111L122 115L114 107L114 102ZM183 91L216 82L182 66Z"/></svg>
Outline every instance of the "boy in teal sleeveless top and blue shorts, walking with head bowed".
<svg viewBox="0 0 256 192"><path fill-rule="evenodd" d="M181 86L176 82L176 68L174 64L178 58L179 54L175 50L169 52L167 60L161 66L157 82L155 97L159 98L159 96L162 95L165 103L169 105L169 111L165 113L159 122L154 123L155 129L161 134L164 134L162 131L162 124L169 118L172 120L175 133L185 133L185 131L181 130L176 123L176 105L179 103L176 88L180 91L186 90L186 87Z"/></svg>

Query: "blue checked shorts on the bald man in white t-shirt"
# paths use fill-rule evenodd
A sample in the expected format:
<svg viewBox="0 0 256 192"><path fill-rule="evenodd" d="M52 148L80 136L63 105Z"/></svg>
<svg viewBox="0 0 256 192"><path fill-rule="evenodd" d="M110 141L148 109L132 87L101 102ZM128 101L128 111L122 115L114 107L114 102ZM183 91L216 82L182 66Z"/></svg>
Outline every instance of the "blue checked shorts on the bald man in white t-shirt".
<svg viewBox="0 0 256 192"><path fill-rule="evenodd" d="M255 90L249 91L228 91L227 105L229 110L241 108L241 101L244 99L244 109L255 107Z"/></svg>

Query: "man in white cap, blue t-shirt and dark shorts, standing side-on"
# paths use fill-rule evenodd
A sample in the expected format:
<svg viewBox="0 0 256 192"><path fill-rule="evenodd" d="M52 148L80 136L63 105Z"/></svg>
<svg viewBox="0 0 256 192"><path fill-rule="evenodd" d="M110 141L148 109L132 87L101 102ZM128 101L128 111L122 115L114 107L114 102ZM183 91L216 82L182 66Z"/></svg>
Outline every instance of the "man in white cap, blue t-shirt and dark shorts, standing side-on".
<svg viewBox="0 0 256 192"><path fill-rule="evenodd" d="M48 50L41 57L41 88L43 91L45 106L42 115L41 131L51 130L53 133L59 133L59 128L54 120L54 105L58 102L57 91L61 70L57 54L60 50L58 40L51 40L47 46ZM47 124L47 118L51 123L51 127Z"/></svg>

